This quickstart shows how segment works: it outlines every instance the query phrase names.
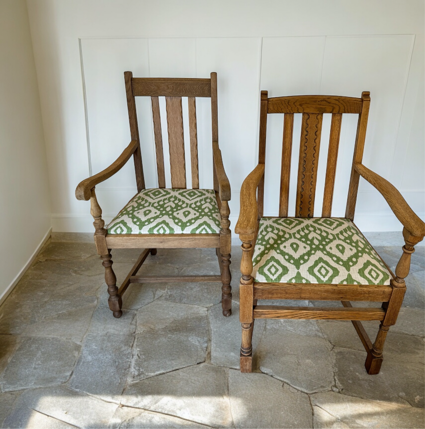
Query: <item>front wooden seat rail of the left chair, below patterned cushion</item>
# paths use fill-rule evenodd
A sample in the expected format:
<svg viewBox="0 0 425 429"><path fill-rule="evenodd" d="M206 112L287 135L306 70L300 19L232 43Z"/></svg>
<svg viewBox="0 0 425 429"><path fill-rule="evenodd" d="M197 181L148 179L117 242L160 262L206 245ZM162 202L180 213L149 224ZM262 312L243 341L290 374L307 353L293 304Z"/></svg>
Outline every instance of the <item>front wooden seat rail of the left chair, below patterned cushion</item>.
<svg viewBox="0 0 425 429"><path fill-rule="evenodd" d="M220 234L108 234L110 249L136 248L217 248Z"/></svg>

